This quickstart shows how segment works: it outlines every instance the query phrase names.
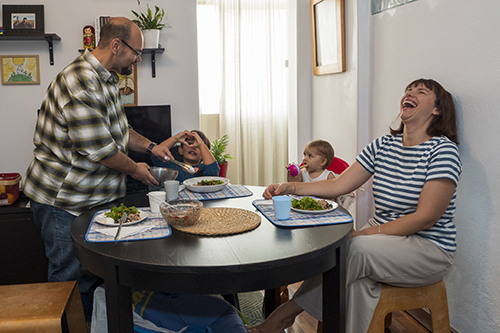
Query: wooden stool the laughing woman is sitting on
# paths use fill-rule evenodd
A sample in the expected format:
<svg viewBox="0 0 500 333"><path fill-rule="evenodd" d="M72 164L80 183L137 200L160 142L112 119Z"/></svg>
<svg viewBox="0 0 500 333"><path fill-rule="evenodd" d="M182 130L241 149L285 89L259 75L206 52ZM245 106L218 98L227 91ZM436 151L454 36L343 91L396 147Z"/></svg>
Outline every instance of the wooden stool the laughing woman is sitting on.
<svg viewBox="0 0 500 333"><path fill-rule="evenodd" d="M382 283L382 294L367 333L383 333L391 325L392 312L429 308L432 332L450 333L448 300L443 281L425 287L402 288Z"/></svg>

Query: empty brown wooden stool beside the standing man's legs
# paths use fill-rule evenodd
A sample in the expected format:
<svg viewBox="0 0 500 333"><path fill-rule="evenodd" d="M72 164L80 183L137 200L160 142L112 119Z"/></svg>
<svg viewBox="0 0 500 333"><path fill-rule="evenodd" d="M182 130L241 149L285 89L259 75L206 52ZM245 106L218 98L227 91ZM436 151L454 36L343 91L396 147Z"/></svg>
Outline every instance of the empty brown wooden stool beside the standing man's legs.
<svg viewBox="0 0 500 333"><path fill-rule="evenodd" d="M76 281L0 286L0 332L62 332L66 314L71 333L87 333Z"/></svg>

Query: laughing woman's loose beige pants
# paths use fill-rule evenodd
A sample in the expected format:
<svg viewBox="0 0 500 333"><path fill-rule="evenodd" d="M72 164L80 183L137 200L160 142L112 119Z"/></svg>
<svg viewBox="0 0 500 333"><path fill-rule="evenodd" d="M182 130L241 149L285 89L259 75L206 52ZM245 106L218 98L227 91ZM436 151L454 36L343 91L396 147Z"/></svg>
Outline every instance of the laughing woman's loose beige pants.
<svg viewBox="0 0 500 333"><path fill-rule="evenodd" d="M380 298L380 282L421 287L442 280L453 262L447 252L417 235L351 239L347 256L346 332L366 333ZM322 276L304 281L293 300L322 321Z"/></svg>

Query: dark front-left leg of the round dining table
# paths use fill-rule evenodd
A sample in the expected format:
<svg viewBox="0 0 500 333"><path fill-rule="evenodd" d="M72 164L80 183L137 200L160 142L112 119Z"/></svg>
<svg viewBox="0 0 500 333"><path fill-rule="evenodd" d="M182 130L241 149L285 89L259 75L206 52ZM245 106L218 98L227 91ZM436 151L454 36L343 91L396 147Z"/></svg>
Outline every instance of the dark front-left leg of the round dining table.
<svg viewBox="0 0 500 333"><path fill-rule="evenodd" d="M133 333L132 292L130 287L121 286L117 281L117 267L111 266L104 279L108 332Z"/></svg>

